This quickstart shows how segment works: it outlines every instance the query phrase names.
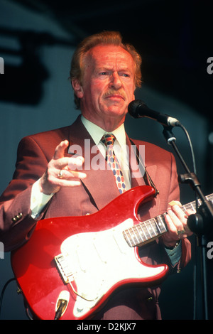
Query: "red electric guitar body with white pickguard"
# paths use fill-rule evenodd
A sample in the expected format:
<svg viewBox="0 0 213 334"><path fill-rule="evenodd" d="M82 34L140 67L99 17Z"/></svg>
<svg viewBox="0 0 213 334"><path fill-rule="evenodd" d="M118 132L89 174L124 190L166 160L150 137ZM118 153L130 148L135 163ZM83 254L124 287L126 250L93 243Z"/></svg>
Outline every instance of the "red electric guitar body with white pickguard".
<svg viewBox="0 0 213 334"><path fill-rule="evenodd" d="M11 265L35 318L54 319L61 291L70 301L61 319L92 318L116 289L126 284L151 286L167 274L168 266L148 266L130 247L123 231L138 224L141 203L153 199L147 185L133 188L109 205L84 217L40 220L31 239L11 253ZM72 269L67 283L55 257L63 254Z"/></svg>

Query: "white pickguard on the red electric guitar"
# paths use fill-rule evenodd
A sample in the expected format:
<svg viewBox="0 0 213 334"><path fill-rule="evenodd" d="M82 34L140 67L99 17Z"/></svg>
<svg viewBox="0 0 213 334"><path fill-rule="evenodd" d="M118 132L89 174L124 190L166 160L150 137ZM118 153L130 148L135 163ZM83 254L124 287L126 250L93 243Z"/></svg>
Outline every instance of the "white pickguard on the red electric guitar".
<svg viewBox="0 0 213 334"><path fill-rule="evenodd" d="M122 231L133 226L131 219L103 232L72 235L61 245L77 286L73 314L84 316L115 284L126 279L153 277L163 266L143 266L129 247Z"/></svg>

